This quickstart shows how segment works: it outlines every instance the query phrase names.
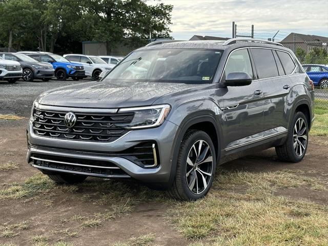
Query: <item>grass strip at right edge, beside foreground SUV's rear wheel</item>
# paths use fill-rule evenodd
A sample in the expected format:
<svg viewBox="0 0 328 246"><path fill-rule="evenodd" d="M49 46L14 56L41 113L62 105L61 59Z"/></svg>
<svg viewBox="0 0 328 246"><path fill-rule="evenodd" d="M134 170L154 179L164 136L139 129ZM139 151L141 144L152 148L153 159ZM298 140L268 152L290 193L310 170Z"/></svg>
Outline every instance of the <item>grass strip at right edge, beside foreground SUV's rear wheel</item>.
<svg viewBox="0 0 328 246"><path fill-rule="evenodd" d="M313 122L310 134L312 136L328 135L328 100L316 98L315 109L316 118Z"/></svg>

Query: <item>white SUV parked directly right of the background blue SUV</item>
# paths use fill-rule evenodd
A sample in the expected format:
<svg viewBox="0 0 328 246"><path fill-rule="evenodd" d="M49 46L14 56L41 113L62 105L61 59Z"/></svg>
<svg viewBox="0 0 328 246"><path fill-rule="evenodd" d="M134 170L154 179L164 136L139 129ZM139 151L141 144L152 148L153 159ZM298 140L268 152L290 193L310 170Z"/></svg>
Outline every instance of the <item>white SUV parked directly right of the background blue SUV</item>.
<svg viewBox="0 0 328 246"><path fill-rule="evenodd" d="M71 62L83 64L86 75L95 80L99 79L101 72L112 69L103 59L95 55L65 54L64 57Z"/></svg>

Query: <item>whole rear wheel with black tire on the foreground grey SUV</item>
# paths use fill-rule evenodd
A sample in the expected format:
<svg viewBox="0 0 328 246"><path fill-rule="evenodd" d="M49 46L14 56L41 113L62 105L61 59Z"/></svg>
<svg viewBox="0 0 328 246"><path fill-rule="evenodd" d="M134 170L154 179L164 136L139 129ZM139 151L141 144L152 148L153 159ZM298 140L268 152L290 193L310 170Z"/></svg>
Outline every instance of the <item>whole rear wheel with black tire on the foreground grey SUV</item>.
<svg viewBox="0 0 328 246"><path fill-rule="evenodd" d="M300 129L295 128L297 122L304 122L305 132L302 134ZM296 134L295 134L296 133ZM301 135L299 134L301 133ZM306 139L304 138L306 136ZM305 140L305 141L304 141ZM295 146L296 141L296 148ZM298 143L300 142L300 144ZM288 135L285 143L276 147L276 153L280 160L289 162L299 162L303 159L309 142L309 124L302 112L295 112L292 124L288 129Z"/></svg>

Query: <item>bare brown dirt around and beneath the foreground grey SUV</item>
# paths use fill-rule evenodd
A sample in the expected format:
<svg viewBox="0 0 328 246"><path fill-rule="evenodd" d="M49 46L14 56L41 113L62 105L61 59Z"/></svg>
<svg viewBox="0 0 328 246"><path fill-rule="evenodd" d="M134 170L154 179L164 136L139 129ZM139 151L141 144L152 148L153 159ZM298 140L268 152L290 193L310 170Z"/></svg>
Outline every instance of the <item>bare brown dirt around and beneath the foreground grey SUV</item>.
<svg viewBox="0 0 328 246"><path fill-rule="evenodd" d="M324 160L328 157L328 152L325 151L327 141L327 137L311 137L308 154L300 163L280 162L274 150L270 149L230 161L219 168L227 172L254 173L289 170L296 175L299 173L326 182L328 165ZM10 126L0 125L0 163L14 162L19 165L17 169L0 172L0 190L8 189L15 182L24 183L38 173L26 163L26 151L26 121L13 122ZM305 181L309 182L309 180ZM0 237L0 244L12 242L16 245L33 245L34 238L44 239L49 245L53 245L58 240L73 242L74 245L109 245L118 241L128 242L131 238L146 234L154 234L150 245L192 243L167 219L169 211L176 206L175 201L161 196L160 193L151 193L139 183L128 185L135 193L131 199L139 199L138 202L133 203L131 211L118 213L114 217L104 217L106 213L113 210L116 203L119 203L118 197L122 197L124 202L126 202L124 199L127 199L124 189L112 193L105 191L117 189L115 185L106 185L108 182L104 179L87 179L86 185L78 185L76 189L54 188L53 191L38 193L29 198L0 200L2 209L0 233L8 229L6 229L7 236ZM213 191L215 192L216 189L219 187L214 187ZM235 187L235 191L244 193L244 190L239 190L238 186ZM112 196L109 194L114 194L113 201L110 200ZM311 190L302 186L295 189L279 188L275 191L275 195L297 200L309 199L321 204L326 204L328 201L327 191L315 190L315 188ZM46 198L49 198L49 203L45 202ZM103 202L105 200L106 202ZM91 221L94 223L89 224L93 226L82 226L85 221L91 219L94 219ZM26 223L27 227L23 229L13 226L18 223Z"/></svg>

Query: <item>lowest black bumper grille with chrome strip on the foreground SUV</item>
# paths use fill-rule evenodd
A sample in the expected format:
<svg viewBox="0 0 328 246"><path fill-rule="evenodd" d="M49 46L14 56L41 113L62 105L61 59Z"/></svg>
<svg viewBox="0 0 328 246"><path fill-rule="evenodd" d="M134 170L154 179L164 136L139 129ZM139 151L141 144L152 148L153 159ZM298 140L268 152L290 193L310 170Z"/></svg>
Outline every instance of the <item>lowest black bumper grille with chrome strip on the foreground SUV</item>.
<svg viewBox="0 0 328 246"><path fill-rule="evenodd" d="M86 160L79 158L32 154L30 161L39 168L58 169L58 171L73 171L95 176L130 177L126 172L109 161ZM37 168L37 167L36 167Z"/></svg>

